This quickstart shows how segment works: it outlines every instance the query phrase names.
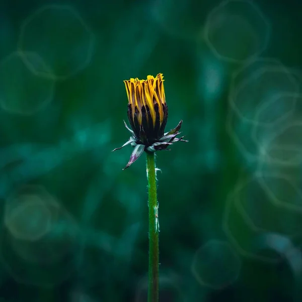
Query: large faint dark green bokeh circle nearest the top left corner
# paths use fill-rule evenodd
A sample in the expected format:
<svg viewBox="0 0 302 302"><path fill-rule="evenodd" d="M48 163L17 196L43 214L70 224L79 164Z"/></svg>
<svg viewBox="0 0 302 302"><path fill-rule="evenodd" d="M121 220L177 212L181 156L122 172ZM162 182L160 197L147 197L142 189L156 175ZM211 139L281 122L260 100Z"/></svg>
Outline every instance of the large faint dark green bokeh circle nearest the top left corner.
<svg viewBox="0 0 302 302"><path fill-rule="evenodd" d="M36 68L30 57L26 64L39 76L64 80L91 62L94 35L82 17L70 6L47 5L25 19L18 48L38 53L52 72Z"/></svg>

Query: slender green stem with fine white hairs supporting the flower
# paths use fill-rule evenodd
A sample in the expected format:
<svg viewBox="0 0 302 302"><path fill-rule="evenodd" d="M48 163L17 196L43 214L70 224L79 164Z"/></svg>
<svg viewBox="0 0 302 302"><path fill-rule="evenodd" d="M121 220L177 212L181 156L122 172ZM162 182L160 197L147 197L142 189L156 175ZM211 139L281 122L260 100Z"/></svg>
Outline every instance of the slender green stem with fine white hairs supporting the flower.
<svg viewBox="0 0 302 302"><path fill-rule="evenodd" d="M149 207L149 276L148 302L159 300L159 220L156 187L155 154L147 153Z"/></svg>

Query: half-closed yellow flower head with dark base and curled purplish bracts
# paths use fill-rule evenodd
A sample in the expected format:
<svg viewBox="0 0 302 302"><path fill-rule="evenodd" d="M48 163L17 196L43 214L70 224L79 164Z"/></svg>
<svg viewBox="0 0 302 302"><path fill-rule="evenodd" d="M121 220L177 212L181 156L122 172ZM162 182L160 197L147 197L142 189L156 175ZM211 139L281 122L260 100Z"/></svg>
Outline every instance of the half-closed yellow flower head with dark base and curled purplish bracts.
<svg viewBox="0 0 302 302"><path fill-rule="evenodd" d="M158 74L155 78L147 76L146 80L131 78L124 81L128 96L128 119L132 130L124 123L131 137L122 147L113 151L128 144L134 147L125 168L129 167L143 151L165 150L173 142L187 142L183 140L183 137L176 137L180 134L182 120L174 129L164 133L168 119L168 106L163 78L163 74Z"/></svg>

